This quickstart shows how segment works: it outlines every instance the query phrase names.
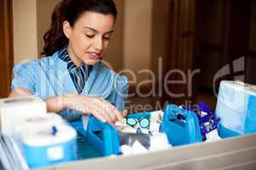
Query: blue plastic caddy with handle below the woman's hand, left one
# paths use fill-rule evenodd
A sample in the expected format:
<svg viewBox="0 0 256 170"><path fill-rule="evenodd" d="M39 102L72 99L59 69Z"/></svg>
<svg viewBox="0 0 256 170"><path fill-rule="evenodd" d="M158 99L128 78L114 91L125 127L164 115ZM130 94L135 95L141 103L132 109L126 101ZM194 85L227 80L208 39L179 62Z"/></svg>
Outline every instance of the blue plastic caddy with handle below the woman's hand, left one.
<svg viewBox="0 0 256 170"><path fill-rule="evenodd" d="M120 153L117 130L109 123L100 122L94 116L90 116L87 131L84 130L82 121L71 122L70 124L76 128L78 133L77 156L79 159L118 155Z"/></svg>

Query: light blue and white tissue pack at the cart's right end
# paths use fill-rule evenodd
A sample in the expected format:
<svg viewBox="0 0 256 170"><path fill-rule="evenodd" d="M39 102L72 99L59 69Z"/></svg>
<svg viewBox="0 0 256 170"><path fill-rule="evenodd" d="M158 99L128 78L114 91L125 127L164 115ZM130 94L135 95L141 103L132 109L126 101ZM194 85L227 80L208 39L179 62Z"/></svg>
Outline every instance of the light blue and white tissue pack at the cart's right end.
<svg viewBox="0 0 256 170"><path fill-rule="evenodd" d="M243 82L220 82L216 115L220 124L238 134L256 132L256 86Z"/></svg>

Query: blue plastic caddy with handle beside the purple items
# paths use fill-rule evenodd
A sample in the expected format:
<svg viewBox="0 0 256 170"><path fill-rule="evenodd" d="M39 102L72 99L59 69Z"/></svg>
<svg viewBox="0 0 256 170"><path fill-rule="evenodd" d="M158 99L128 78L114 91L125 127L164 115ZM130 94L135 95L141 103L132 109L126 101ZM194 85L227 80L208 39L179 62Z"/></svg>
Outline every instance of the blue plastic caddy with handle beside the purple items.
<svg viewBox="0 0 256 170"><path fill-rule="evenodd" d="M202 141L197 116L192 111L167 105L160 125L160 132L166 133L170 144L192 144Z"/></svg>

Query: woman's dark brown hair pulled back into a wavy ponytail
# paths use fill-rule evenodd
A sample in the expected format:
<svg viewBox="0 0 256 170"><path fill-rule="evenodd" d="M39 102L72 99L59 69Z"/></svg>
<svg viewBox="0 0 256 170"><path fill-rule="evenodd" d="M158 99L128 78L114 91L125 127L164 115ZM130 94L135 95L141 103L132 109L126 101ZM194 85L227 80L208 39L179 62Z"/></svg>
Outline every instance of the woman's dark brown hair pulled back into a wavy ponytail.
<svg viewBox="0 0 256 170"><path fill-rule="evenodd" d="M74 26L85 12L112 14L115 19L117 18L117 8L112 0L63 0L54 8L51 26L43 36L42 54L49 56L64 48L68 44L68 38L63 32L63 22L67 20Z"/></svg>

